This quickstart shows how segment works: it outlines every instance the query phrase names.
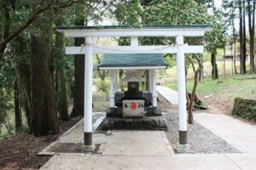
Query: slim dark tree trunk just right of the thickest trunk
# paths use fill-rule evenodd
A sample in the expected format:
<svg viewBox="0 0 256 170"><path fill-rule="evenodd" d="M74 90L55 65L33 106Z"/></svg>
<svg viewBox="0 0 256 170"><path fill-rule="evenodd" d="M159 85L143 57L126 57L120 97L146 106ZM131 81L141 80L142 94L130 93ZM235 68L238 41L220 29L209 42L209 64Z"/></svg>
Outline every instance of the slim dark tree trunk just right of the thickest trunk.
<svg viewBox="0 0 256 170"><path fill-rule="evenodd" d="M61 19L56 21L56 26L61 26L62 21ZM56 69L56 80L58 80L57 86L57 98L58 98L58 110L60 113L60 120L61 121L68 121L68 112L67 112L67 89L66 89L66 79L65 79L65 73L64 73L64 36L60 32L56 32L56 48L58 49L55 59L59 61L59 65Z"/></svg>

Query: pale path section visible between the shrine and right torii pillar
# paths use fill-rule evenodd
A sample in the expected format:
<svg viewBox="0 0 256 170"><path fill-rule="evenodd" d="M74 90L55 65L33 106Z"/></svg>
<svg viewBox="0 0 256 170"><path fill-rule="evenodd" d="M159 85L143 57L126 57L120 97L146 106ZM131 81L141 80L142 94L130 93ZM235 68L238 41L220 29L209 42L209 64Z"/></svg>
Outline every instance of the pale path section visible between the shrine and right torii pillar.
<svg viewBox="0 0 256 170"><path fill-rule="evenodd" d="M166 88L164 86L157 86L156 91L172 105L177 105L177 92L175 90L172 90L171 88Z"/></svg>

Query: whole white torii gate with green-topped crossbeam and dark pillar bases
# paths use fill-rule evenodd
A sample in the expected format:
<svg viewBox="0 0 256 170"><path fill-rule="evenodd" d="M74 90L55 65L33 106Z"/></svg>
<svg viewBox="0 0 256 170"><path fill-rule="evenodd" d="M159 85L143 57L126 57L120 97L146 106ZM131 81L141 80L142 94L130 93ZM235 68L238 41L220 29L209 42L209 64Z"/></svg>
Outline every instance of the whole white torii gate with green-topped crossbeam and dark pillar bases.
<svg viewBox="0 0 256 170"><path fill-rule="evenodd" d="M177 54L178 150L187 150L187 111L184 54L201 54L203 46L184 44L183 37L202 37L212 26L72 26L59 27L66 37L84 37L85 47L67 47L66 54L85 54L84 150L92 150L93 54ZM131 46L96 46L93 37L131 37ZM137 37L176 37L173 46L140 46ZM154 70L153 70L154 71ZM114 74L114 73L113 73ZM154 77L154 73L151 72ZM155 79L155 78L153 78ZM153 80L154 82L154 80Z"/></svg>

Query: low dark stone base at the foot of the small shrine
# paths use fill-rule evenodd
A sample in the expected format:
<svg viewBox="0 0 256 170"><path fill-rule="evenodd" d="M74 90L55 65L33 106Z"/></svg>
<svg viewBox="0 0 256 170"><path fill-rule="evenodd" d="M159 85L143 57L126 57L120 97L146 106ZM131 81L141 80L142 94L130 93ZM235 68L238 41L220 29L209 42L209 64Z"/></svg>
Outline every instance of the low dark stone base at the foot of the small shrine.
<svg viewBox="0 0 256 170"><path fill-rule="evenodd" d="M143 118L105 117L100 130L164 130L167 121L164 116L144 116Z"/></svg>

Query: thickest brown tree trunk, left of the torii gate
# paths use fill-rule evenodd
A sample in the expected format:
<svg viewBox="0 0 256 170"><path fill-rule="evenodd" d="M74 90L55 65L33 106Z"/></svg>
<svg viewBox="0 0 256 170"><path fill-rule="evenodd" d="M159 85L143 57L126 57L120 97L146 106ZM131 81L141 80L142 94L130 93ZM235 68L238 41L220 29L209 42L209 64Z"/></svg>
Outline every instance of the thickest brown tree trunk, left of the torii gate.
<svg viewBox="0 0 256 170"><path fill-rule="evenodd" d="M35 136L59 133L55 111L52 31L53 13L42 14L35 22L31 54L32 133Z"/></svg>

